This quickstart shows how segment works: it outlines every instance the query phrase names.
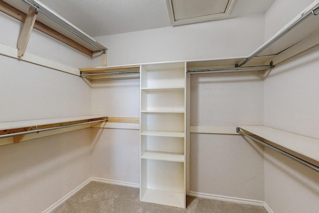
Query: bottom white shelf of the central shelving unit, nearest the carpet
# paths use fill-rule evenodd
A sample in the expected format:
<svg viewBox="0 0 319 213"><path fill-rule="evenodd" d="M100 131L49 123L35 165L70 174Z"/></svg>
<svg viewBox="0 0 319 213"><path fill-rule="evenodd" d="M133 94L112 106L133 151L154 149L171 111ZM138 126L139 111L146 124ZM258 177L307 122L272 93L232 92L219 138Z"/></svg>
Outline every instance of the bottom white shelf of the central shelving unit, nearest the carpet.
<svg viewBox="0 0 319 213"><path fill-rule="evenodd" d="M186 195L184 193L147 189L141 201L178 208L185 208L185 199Z"/></svg>

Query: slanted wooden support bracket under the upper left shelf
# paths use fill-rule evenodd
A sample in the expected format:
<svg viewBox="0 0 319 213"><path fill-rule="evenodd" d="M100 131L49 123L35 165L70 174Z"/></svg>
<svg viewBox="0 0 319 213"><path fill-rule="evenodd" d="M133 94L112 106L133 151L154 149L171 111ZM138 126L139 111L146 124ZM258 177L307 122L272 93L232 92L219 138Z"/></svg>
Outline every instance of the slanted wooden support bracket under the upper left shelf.
<svg viewBox="0 0 319 213"><path fill-rule="evenodd" d="M31 36L32 28L34 26L37 13L38 12L32 7L29 8L28 14L26 15L26 18L23 24L21 34L18 39L18 44L17 44L18 57L22 57L24 55L26 46Z"/></svg>

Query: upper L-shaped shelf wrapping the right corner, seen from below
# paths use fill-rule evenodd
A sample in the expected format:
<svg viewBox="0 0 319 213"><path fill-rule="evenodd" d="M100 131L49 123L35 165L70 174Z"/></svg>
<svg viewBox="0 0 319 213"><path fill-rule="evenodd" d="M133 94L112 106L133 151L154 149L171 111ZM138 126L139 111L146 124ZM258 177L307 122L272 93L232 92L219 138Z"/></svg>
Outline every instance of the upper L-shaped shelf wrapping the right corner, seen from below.
<svg viewBox="0 0 319 213"><path fill-rule="evenodd" d="M299 15L292 19L273 37L258 47L247 57L212 59L201 61L188 61L187 70L229 68L236 69L247 66L266 66L273 62L279 64L292 56L303 52L319 44L319 0L315 0ZM261 71L269 67L259 67L249 69L251 71ZM227 70L227 71L228 71ZM247 71L248 69L241 69ZM207 70L205 70L207 72ZM212 72L212 71L209 71ZM214 72L225 72L224 70L214 70ZM200 72L196 72L200 73Z"/></svg>

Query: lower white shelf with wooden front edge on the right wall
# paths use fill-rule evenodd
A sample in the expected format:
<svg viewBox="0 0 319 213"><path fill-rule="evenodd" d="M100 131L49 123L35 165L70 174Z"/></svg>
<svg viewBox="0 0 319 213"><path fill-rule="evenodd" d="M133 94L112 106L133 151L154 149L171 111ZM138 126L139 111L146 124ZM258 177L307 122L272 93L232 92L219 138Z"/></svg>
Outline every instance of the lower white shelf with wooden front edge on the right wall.
<svg viewBox="0 0 319 213"><path fill-rule="evenodd" d="M319 167L319 139L266 126L240 126L240 129L267 144Z"/></svg>

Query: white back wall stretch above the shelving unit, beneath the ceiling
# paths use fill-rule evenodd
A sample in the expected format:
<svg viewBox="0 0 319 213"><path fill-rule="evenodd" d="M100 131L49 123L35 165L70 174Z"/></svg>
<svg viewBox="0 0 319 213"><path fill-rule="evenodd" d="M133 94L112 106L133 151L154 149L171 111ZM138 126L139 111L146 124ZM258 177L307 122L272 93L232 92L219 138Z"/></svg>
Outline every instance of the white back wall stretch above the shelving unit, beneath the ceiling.
<svg viewBox="0 0 319 213"><path fill-rule="evenodd" d="M96 39L108 47L108 65L243 56L262 44L264 16L163 27ZM100 58L95 58L93 66L100 64Z"/></svg>

